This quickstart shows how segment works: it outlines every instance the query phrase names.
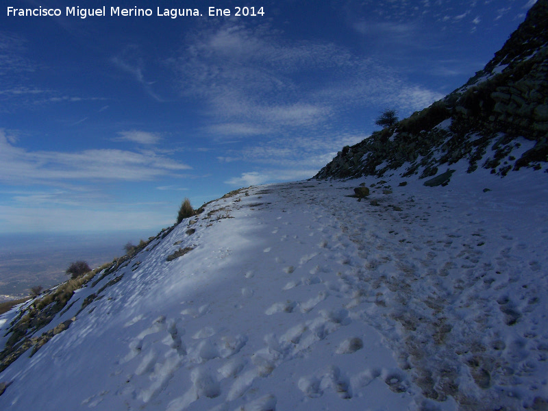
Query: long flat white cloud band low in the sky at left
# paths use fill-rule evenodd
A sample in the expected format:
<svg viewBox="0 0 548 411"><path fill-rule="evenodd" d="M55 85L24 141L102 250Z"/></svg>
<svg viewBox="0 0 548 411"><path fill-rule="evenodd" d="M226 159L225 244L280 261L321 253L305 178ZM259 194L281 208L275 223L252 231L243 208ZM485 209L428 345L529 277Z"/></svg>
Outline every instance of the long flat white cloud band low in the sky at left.
<svg viewBox="0 0 548 411"><path fill-rule="evenodd" d="M180 175L191 167L155 151L87 149L76 152L29 151L0 130L0 181L36 184L85 179L151 181Z"/></svg>

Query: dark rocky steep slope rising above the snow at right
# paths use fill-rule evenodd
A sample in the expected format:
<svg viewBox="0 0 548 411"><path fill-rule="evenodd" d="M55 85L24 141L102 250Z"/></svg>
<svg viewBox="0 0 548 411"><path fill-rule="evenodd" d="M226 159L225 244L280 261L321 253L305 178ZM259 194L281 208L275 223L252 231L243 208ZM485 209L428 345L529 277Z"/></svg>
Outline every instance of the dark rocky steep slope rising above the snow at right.
<svg viewBox="0 0 548 411"><path fill-rule="evenodd" d="M539 0L484 70L440 101L345 147L315 176L431 177L459 160L504 176L547 171L548 0ZM523 150L523 147L526 150ZM520 154L514 153L519 149ZM445 179L447 182L447 179Z"/></svg>

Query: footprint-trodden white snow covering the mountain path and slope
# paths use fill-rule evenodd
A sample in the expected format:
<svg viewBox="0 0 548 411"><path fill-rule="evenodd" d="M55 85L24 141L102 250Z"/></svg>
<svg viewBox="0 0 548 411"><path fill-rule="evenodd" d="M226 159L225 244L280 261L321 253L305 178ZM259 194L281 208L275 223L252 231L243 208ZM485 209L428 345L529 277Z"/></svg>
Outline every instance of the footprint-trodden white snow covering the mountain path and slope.
<svg viewBox="0 0 548 411"><path fill-rule="evenodd" d="M273 184L210 203L75 293L47 329L123 275L0 373L12 382L0 409L542 405L547 175L451 168L446 187L399 186L395 173L384 184ZM371 195L358 202L349 195L360 183ZM0 316L2 345L14 315Z"/></svg>

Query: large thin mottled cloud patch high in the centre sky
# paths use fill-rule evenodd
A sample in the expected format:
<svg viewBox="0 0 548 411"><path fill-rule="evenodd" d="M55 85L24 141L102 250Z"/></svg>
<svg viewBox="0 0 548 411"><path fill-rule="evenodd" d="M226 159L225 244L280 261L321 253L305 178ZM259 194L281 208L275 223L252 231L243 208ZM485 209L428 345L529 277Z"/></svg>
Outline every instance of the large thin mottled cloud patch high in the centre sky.
<svg viewBox="0 0 548 411"><path fill-rule="evenodd" d="M386 29L407 39L414 27ZM399 99L401 90L418 86L406 86L401 74L374 59L332 42L288 42L267 25L228 23L199 32L170 63L182 94L201 99L213 119L208 132L220 138L310 131L356 105L388 101L418 110L425 101Z"/></svg>

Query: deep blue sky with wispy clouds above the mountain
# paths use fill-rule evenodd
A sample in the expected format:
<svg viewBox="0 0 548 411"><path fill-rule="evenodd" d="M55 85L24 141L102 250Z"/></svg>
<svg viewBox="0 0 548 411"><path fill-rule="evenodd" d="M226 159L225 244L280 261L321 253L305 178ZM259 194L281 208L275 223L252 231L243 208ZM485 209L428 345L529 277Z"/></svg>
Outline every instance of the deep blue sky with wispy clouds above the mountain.
<svg viewBox="0 0 548 411"><path fill-rule="evenodd" d="M97 3L106 16L66 16ZM179 3L203 16L157 15ZM466 82L533 3L4 1L0 233L152 235L184 197L312 177L381 110L405 117Z"/></svg>

